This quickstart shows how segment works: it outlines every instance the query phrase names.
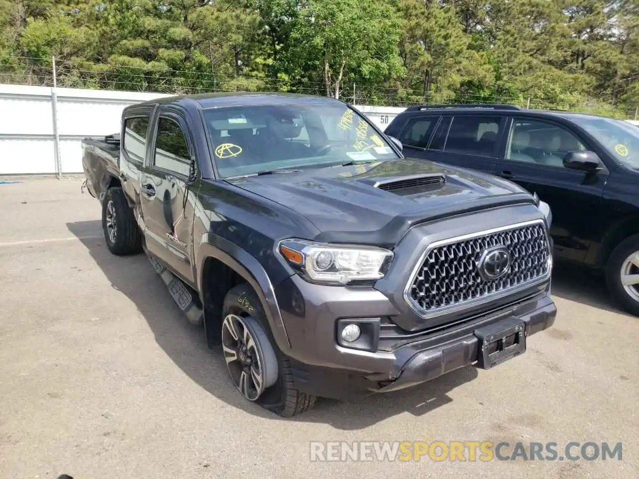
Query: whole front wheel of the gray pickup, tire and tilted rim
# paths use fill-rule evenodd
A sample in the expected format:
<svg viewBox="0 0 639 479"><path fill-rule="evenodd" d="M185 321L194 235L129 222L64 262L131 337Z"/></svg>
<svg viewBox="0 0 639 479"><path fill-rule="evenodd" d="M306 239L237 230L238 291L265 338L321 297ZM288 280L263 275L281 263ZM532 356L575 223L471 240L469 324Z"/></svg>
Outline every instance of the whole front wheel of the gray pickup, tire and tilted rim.
<svg viewBox="0 0 639 479"><path fill-rule="evenodd" d="M224 358L243 397L285 418L311 409L316 397L296 390L291 364L275 344L261 301L249 284L226 294L222 317Z"/></svg>

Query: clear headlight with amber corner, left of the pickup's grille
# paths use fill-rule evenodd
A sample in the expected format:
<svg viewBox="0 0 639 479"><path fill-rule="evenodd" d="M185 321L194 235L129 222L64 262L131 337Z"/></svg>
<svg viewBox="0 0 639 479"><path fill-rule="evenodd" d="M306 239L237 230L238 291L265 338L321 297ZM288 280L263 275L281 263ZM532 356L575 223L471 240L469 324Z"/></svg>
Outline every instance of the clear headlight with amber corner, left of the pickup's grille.
<svg viewBox="0 0 639 479"><path fill-rule="evenodd" d="M285 239L279 252L306 280L334 285L381 279L393 257L383 248L328 245L305 239Z"/></svg>

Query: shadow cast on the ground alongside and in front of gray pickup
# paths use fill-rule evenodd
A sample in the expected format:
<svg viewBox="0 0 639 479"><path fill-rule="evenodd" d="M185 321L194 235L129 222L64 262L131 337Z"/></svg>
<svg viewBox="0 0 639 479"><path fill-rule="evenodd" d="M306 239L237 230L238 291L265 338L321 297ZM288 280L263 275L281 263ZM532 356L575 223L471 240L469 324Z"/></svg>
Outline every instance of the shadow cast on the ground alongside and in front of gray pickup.
<svg viewBox="0 0 639 479"><path fill-rule="evenodd" d="M87 248L111 286L135 304L153 331L158 346L190 379L230 406L279 420L275 414L242 399L227 376L221 350L206 346L203 328L192 326L183 316L146 255L114 256L107 250L104 239L88 239L87 236L102 234L98 220L67 223L66 226ZM449 392L475 377L477 370L465 367L413 388L353 402L320 399L311 411L291 420L358 430L405 412L421 416L452 402Z"/></svg>

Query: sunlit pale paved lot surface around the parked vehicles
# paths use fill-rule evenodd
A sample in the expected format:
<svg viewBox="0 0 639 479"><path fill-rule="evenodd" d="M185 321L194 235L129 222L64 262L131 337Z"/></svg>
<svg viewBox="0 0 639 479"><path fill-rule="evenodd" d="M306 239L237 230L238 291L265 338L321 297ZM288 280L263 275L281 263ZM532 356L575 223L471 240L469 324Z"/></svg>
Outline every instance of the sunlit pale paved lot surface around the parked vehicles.
<svg viewBox="0 0 639 479"><path fill-rule="evenodd" d="M0 185L0 477L639 477L639 320L557 270L555 327L490 371L282 420L240 399L79 179ZM623 443L623 459L310 462L309 441Z"/></svg>

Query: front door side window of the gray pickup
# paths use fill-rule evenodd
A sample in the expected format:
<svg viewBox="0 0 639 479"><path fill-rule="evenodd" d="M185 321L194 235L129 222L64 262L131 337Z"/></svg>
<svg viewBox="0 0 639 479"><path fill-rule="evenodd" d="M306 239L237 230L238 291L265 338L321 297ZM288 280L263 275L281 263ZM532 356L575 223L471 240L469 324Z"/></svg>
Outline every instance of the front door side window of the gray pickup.
<svg viewBox="0 0 639 479"><path fill-rule="evenodd" d="M172 119L160 118L153 165L189 176L189 163L189 146L180 125Z"/></svg>

